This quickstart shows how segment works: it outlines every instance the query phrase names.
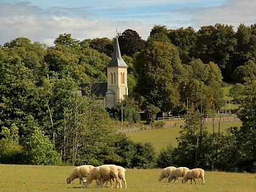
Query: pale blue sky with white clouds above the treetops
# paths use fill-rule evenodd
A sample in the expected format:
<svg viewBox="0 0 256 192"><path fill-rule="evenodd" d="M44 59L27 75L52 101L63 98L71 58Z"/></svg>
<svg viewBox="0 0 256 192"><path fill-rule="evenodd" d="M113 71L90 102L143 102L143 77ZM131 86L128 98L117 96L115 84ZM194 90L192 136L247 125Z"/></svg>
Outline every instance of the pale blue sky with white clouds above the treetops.
<svg viewBox="0 0 256 192"><path fill-rule="evenodd" d="M17 37L49 46L60 34L112 39L126 29L146 40L154 25L167 29L216 23L256 23L256 0L0 0L0 44Z"/></svg>

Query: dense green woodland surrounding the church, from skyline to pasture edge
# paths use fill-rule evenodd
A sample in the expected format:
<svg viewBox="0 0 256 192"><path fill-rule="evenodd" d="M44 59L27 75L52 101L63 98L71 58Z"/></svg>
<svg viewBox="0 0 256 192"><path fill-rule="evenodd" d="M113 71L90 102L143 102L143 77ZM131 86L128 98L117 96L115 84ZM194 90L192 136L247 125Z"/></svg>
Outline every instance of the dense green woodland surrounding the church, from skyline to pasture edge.
<svg viewBox="0 0 256 192"><path fill-rule="evenodd" d="M60 34L55 46L18 37L0 46L0 163L169 165L256 170L256 24L216 24L199 30L154 26L147 40L132 29L117 35L128 68L124 121L148 123L163 112L187 114L177 148L155 154L115 130L121 107L103 108L90 86L107 81L116 37L79 41ZM241 127L210 134L203 113L225 105L221 87L240 110ZM180 152L182 151L182 152ZM194 160L196 158L196 161Z"/></svg>

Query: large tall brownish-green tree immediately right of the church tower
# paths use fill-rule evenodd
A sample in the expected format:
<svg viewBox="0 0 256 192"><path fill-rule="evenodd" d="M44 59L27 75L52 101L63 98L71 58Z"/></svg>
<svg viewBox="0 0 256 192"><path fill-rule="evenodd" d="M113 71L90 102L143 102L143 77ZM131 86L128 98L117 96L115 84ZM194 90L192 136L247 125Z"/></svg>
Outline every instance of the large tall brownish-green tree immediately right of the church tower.
<svg viewBox="0 0 256 192"><path fill-rule="evenodd" d="M172 80L172 66L176 62L179 62L177 49L171 43L157 41L150 43L135 58L138 75L135 91L162 112L169 112L179 105L180 96Z"/></svg>

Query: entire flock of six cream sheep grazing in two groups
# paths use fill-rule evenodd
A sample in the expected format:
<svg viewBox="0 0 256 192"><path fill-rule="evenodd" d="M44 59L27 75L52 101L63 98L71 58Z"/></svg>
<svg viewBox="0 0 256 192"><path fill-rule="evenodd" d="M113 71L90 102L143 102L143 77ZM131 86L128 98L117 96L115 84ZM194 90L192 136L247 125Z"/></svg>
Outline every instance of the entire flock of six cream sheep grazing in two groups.
<svg viewBox="0 0 256 192"><path fill-rule="evenodd" d="M85 180L83 181L83 177ZM164 168L160 172L160 176L158 181L160 182L163 179L168 178L168 182L174 180L174 182L179 182L178 177L183 177L182 183L198 179L199 177L202 179L202 185L205 184L204 180L204 169L195 168L188 169L186 167L176 168L174 166L168 166ZM113 187L112 181L116 182L116 188L122 188L121 180L123 180L124 187L127 188L126 184L126 169L122 166L116 165L101 165L101 166L92 166L92 165L82 165L74 168L73 172L66 179L66 183L70 184L74 179L79 178L80 184L83 182L84 188L88 188L88 185L96 180L95 188L102 187L105 183L105 187L107 187L107 183L110 182L110 187Z"/></svg>

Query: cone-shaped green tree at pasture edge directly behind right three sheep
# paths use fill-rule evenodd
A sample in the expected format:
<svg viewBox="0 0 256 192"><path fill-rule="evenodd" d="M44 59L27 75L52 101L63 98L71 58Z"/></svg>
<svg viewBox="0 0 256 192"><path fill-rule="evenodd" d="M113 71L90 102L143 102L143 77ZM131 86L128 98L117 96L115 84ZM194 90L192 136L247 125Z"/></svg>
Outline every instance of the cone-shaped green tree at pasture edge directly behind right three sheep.
<svg viewBox="0 0 256 192"><path fill-rule="evenodd" d="M180 130L180 136L177 138L178 146L172 152L174 165L207 169L210 165L210 141L202 113L191 114Z"/></svg>

